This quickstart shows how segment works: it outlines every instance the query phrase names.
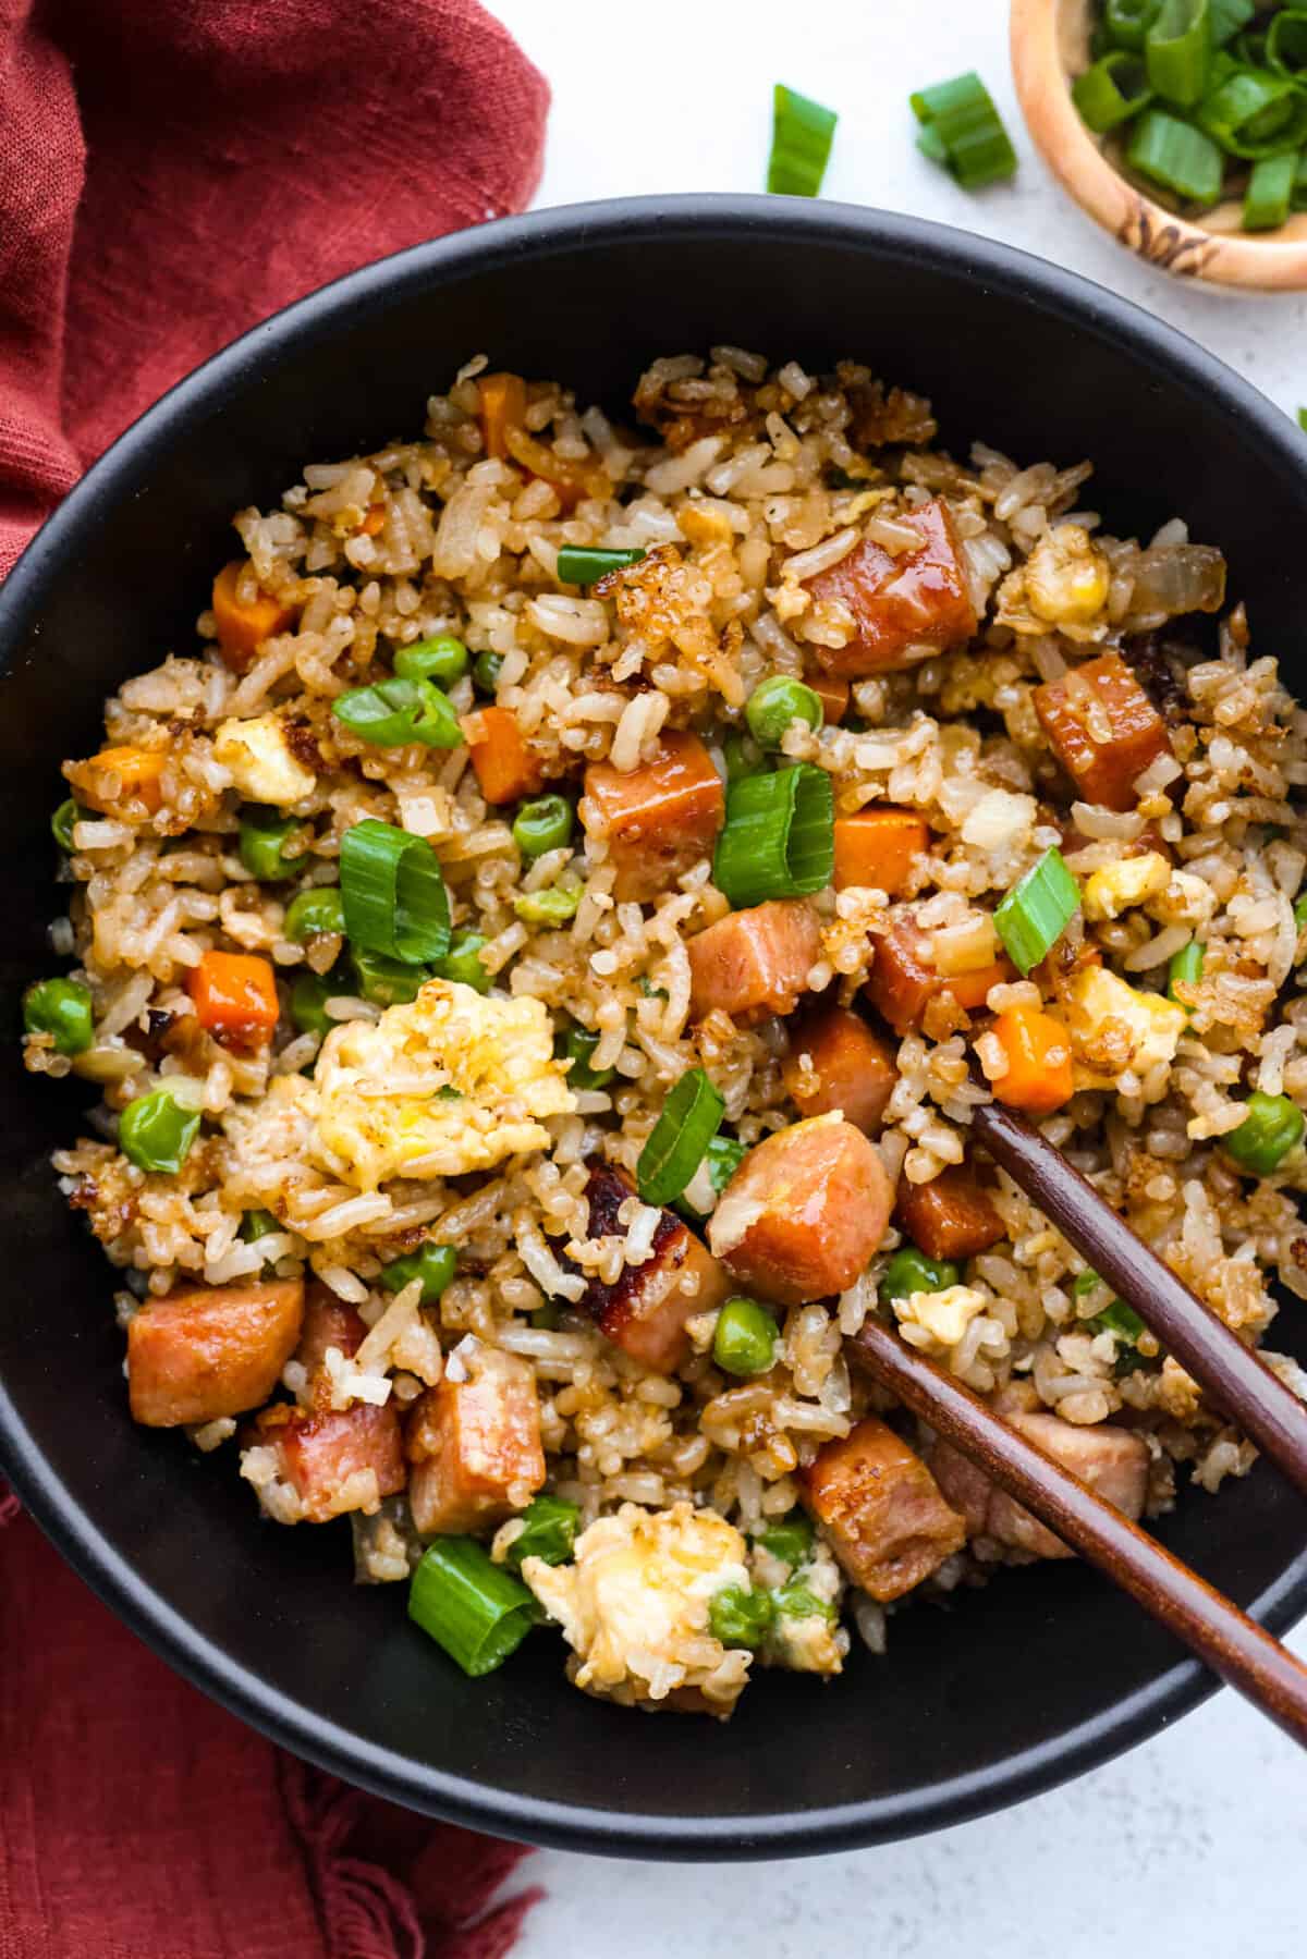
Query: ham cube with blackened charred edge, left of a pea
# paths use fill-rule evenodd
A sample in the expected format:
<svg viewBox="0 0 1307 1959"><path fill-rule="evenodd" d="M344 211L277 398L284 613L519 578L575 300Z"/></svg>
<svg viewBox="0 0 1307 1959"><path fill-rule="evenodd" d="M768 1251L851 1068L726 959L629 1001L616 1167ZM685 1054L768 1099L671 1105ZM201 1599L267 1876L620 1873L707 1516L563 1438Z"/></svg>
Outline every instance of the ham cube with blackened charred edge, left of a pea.
<svg viewBox="0 0 1307 1959"><path fill-rule="evenodd" d="M633 1191L607 1166L590 1171L590 1236L621 1238L617 1211ZM613 1285L590 1279L582 1307L600 1332L654 1373L674 1373L690 1352L686 1322L711 1313L731 1295L731 1279L690 1226L664 1211L653 1240L653 1258L623 1266Z"/></svg>

